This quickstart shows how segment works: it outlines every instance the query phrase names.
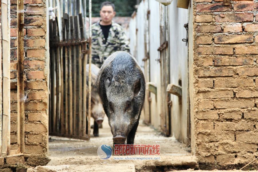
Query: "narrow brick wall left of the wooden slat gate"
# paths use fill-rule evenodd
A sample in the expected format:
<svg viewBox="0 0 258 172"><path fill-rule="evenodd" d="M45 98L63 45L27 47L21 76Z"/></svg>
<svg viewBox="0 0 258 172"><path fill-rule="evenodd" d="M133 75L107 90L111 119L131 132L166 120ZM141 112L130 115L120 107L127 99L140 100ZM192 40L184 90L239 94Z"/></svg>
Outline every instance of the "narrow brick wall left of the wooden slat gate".
<svg viewBox="0 0 258 172"><path fill-rule="evenodd" d="M11 0L11 150L17 149L16 3ZM35 165L37 158L46 156L48 143L46 4L43 0L25 0L24 9L25 153L35 155L29 159L21 158L21 161ZM41 162L42 165L45 163L44 160ZM38 161L37 165L40 164Z"/></svg>

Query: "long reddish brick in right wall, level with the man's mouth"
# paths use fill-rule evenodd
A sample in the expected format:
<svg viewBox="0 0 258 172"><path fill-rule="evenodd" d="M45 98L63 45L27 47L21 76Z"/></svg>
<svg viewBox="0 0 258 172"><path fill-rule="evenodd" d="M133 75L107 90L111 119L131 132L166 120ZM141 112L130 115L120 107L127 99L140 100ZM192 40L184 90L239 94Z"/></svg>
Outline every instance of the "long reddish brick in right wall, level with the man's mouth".
<svg viewBox="0 0 258 172"><path fill-rule="evenodd" d="M215 16L216 22L250 22L253 21L252 13L222 14Z"/></svg>

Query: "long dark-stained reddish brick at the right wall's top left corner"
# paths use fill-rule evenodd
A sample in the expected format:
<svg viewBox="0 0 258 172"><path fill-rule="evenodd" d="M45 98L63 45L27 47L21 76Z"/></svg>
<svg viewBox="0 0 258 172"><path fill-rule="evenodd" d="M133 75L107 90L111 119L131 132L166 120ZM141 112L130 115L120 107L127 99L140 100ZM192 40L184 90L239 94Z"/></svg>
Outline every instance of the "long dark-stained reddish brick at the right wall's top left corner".
<svg viewBox="0 0 258 172"><path fill-rule="evenodd" d="M197 4L197 12L223 12L231 11L231 5L225 5L224 3L211 3L211 4Z"/></svg>

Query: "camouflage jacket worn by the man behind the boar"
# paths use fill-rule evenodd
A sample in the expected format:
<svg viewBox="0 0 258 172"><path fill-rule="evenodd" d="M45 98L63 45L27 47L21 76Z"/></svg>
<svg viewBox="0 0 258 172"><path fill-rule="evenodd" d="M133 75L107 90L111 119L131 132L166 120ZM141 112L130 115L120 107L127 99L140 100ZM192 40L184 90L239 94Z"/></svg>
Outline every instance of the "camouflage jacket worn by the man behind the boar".
<svg viewBox="0 0 258 172"><path fill-rule="evenodd" d="M105 59L116 51L126 51L130 53L129 41L119 24L112 21L107 42L105 41L99 22L92 25L92 63L101 67Z"/></svg>

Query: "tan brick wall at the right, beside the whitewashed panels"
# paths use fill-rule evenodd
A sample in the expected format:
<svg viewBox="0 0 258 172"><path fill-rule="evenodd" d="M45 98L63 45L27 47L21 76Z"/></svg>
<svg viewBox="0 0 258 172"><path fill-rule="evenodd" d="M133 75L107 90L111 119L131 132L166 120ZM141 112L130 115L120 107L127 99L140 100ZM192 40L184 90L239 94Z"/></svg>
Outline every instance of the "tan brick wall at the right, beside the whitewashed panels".
<svg viewBox="0 0 258 172"><path fill-rule="evenodd" d="M199 162L258 156L258 3L193 1L193 102Z"/></svg>

